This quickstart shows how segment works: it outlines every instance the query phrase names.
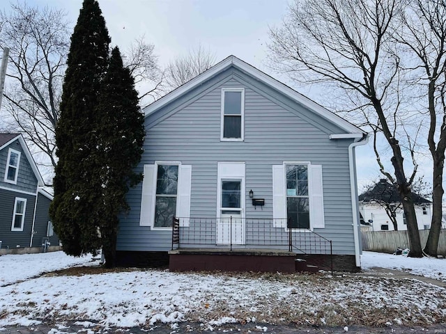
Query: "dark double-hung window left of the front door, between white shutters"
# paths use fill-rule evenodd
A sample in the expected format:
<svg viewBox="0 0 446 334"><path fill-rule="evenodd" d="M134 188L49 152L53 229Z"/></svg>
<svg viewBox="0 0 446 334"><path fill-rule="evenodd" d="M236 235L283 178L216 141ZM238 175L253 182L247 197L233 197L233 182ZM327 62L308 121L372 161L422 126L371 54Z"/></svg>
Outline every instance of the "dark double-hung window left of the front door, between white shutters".
<svg viewBox="0 0 446 334"><path fill-rule="evenodd" d="M178 165L157 165L155 228L170 228L176 213Z"/></svg>

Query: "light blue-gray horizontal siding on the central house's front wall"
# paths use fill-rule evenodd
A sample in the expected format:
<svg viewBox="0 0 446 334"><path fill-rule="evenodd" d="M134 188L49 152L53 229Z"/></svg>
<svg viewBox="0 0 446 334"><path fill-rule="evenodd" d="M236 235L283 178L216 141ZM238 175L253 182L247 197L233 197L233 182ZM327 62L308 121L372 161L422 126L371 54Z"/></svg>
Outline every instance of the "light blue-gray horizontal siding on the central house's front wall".
<svg viewBox="0 0 446 334"><path fill-rule="evenodd" d="M220 141L221 88L245 88L245 141ZM217 163L246 163L249 218L272 218L272 165L310 161L323 168L325 228L336 254L354 254L348 145L332 141L344 133L284 95L233 68L210 79L146 118L142 164L181 161L192 165L192 217L217 214ZM138 170L142 171L142 167ZM263 209L249 201L249 189L265 198ZM171 232L139 226L141 184L128 193L130 213L121 217L118 250L169 250Z"/></svg>

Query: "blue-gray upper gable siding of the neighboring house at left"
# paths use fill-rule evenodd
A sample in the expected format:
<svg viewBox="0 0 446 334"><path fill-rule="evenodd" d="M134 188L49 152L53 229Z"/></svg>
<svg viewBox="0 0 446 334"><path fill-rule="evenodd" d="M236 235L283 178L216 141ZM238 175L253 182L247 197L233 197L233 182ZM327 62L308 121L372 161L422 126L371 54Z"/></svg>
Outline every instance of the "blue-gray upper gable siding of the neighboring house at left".
<svg viewBox="0 0 446 334"><path fill-rule="evenodd" d="M8 159L8 151L10 148L21 152L17 184L10 184L4 181L6 173L6 160ZM29 164L29 161L26 158L26 155L22 148L22 145L20 145L20 141L18 139L13 143L10 143L10 145L6 146L5 148L3 148L3 150L0 151L0 186L18 191L36 193L37 189L36 175L34 174L33 169L31 168L31 165Z"/></svg>

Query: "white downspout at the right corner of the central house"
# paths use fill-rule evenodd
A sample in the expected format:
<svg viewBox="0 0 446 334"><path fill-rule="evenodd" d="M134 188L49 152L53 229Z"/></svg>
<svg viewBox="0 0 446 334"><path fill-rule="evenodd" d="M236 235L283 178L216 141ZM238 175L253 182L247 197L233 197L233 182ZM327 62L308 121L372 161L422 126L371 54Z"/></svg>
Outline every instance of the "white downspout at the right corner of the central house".
<svg viewBox="0 0 446 334"><path fill-rule="evenodd" d="M351 191L351 207L353 215L353 240L355 241L355 263L356 267L361 267L360 259L360 233L358 230L358 207L357 207L357 184L356 184L356 165L355 165L355 148L357 146L369 143L369 135L365 138L357 138L353 143L348 145L348 167L350 169L350 191Z"/></svg>

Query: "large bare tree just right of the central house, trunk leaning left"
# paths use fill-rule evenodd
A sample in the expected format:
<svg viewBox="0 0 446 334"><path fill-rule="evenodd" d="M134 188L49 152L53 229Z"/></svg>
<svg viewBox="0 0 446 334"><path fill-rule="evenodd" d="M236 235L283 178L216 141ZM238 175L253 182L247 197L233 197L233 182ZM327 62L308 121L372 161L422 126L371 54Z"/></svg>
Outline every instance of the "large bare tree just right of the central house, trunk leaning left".
<svg viewBox="0 0 446 334"><path fill-rule="evenodd" d="M280 29L271 29L270 60L275 69L306 83L332 84L346 97L350 113L382 135L391 152L393 172L381 161L376 136L374 150L380 173L403 199L410 256L421 257L422 247L410 186L417 173L414 145L401 145L399 96L401 67L398 45L390 43L390 26L402 10L398 0L295 0ZM404 157L414 166L406 174Z"/></svg>

